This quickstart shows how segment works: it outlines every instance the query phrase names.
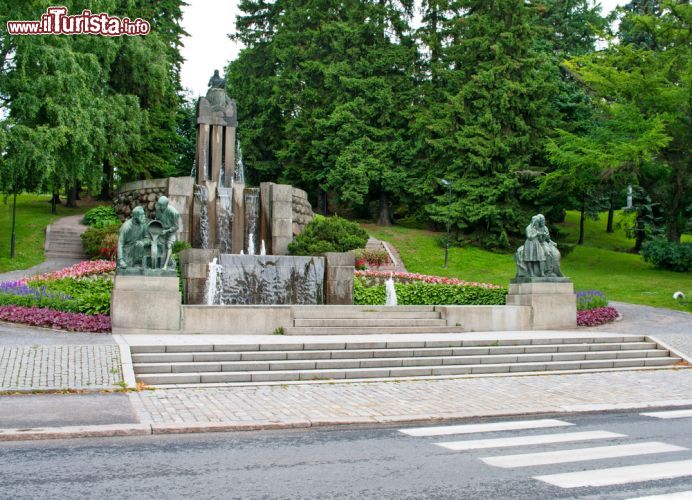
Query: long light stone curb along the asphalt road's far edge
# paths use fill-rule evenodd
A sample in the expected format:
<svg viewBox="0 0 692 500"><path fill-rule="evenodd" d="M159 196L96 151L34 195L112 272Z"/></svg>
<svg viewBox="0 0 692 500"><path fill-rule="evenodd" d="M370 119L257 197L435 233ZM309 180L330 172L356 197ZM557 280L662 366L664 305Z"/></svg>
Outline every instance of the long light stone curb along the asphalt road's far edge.
<svg viewBox="0 0 692 500"><path fill-rule="evenodd" d="M490 413L469 415L465 413L446 413L438 415L392 415L380 417L325 417L319 419L288 419L283 421L254 420L226 421L209 423L172 424L108 424L67 427L34 427L27 429L0 429L0 442L37 441L47 439L77 439L116 436L149 436L160 434L202 434L210 432L269 431L286 429L308 429L319 427L346 427L368 425L407 425L459 421L470 418L519 417L540 414L570 414L622 410L646 410L651 408L671 408L692 406L692 399L661 400L648 403L585 404L568 405L545 409L538 412Z"/></svg>

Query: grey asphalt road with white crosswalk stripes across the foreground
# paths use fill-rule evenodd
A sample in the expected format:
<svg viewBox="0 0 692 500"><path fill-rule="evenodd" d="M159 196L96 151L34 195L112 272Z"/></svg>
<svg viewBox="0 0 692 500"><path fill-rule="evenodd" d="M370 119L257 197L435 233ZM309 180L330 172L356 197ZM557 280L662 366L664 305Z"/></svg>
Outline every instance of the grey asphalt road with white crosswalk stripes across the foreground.
<svg viewBox="0 0 692 500"><path fill-rule="evenodd" d="M640 412L475 419L431 432L448 432L455 424L525 427L535 420L541 422L532 425L543 427L494 432L465 427L455 431L474 432L433 436L385 427L0 443L0 498L619 499L682 491L689 495L692 411L688 415L665 420ZM403 429L426 433L416 426ZM574 433L588 434L577 438ZM534 444L517 445L517 438ZM563 442L554 442L559 439ZM447 448L470 447L471 441L476 447L494 447ZM574 449L582 451L569 452ZM594 459L599 453L609 458ZM522 456L507 457L516 454ZM648 474L671 474L676 468L683 477L640 481ZM603 469L612 470L596 472ZM579 471L592 472L556 476ZM594 478L622 484L579 486L580 481ZM564 487L565 481L573 487Z"/></svg>

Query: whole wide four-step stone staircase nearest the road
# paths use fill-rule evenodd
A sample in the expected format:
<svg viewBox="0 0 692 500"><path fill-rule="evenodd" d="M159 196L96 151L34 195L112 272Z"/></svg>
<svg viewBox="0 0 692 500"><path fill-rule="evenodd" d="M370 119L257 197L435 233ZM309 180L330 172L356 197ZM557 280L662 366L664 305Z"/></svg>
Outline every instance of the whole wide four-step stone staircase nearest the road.
<svg viewBox="0 0 692 500"><path fill-rule="evenodd" d="M131 350L138 382L158 387L591 372L686 364L644 336L463 337L404 335L372 341L354 336L338 341L336 337L314 341L284 337L261 344L229 344L226 337L226 343L138 345Z"/></svg>

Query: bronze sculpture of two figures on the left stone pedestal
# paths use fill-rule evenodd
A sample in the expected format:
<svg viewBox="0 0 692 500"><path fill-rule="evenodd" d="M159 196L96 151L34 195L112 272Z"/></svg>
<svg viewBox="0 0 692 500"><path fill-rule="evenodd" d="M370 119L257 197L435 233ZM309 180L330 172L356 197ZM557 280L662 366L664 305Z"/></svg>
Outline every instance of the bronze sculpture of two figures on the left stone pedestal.
<svg viewBox="0 0 692 500"><path fill-rule="evenodd" d="M118 238L119 269L173 269L173 245L180 228L180 214L161 196L156 202L156 218L147 220L142 207L120 228Z"/></svg>

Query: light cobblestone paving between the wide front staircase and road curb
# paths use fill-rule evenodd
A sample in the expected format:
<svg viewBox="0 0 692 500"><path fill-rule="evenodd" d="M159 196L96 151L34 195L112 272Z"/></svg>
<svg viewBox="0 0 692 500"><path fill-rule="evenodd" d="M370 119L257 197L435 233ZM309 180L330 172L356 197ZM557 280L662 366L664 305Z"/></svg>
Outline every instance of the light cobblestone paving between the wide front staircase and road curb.
<svg viewBox="0 0 692 500"><path fill-rule="evenodd" d="M142 423L414 420L692 400L692 370L167 389L131 393ZM674 403L672 403L674 404Z"/></svg>

